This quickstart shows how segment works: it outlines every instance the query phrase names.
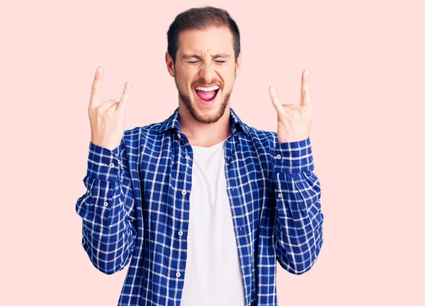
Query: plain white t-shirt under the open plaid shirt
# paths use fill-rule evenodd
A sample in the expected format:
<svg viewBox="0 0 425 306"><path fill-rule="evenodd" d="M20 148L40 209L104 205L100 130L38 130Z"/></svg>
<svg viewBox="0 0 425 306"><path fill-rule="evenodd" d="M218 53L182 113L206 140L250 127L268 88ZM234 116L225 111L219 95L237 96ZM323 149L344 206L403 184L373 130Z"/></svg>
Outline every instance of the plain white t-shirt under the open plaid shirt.
<svg viewBox="0 0 425 306"><path fill-rule="evenodd" d="M243 306L244 285L225 176L225 140L193 146L181 306Z"/></svg>

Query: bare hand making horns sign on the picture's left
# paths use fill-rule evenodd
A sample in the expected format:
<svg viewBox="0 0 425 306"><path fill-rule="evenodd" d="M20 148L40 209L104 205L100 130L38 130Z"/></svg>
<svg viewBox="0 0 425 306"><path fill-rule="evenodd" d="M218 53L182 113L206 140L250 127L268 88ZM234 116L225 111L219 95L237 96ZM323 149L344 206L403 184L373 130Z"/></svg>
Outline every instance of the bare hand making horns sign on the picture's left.
<svg viewBox="0 0 425 306"><path fill-rule="evenodd" d="M94 145L113 150L120 145L123 139L124 112L130 95L130 82L125 83L120 101L102 102L102 79L103 67L98 67L94 74L89 102L91 142Z"/></svg>

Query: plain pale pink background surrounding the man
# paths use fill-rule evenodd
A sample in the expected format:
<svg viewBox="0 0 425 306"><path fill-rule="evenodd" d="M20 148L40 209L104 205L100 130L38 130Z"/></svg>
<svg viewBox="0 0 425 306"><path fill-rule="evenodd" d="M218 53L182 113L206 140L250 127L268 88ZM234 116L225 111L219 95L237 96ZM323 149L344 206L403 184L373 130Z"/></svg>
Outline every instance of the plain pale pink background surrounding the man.
<svg viewBox="0 0 425 306"><path fill-rule="evenodd" d="M324 244L307 273L278 269L279 305L425 305L424 3L292 2L1 5L1 305L117 305L128 267L94 268L75 212L91 82L103 66L103 100L131 82L126 130L167 118L166 30L204 4L239 25L231 106L248 125L276 131L268 86L299 103L310 71Z"/></svg>

